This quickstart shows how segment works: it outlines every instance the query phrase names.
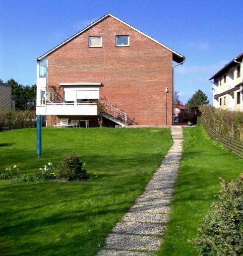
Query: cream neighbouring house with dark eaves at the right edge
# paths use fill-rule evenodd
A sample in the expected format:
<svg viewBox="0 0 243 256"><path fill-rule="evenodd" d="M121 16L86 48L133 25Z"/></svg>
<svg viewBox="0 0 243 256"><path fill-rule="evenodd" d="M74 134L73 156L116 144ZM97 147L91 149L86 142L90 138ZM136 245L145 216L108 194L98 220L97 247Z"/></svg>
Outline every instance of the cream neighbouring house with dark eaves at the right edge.
<svg viewBox="0 0 243 256"><path fill-rule="evenodd" d="M213 105L216 108L243 110L243 54L233 59L213 79Z"/></svg>

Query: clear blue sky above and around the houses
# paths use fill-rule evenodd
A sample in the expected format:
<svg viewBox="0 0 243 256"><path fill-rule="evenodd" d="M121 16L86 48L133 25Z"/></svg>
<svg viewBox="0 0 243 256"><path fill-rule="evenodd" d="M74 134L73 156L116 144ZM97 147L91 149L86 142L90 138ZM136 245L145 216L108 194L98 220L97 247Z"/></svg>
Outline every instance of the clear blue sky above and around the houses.
<svg viewBox="0 0 243 256"><path fill-rule="evenodd" d="M243 0L0 0L0 79L36 83L36 58L111 13L186 57L175 68L182 103L243 53Z"/></svg>

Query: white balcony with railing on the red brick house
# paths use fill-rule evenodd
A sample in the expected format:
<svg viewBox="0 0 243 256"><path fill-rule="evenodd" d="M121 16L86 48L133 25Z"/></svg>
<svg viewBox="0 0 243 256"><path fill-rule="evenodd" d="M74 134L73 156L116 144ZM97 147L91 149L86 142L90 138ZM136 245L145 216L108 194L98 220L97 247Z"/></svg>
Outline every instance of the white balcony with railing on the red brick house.
<svg viewBox="0 0 243 256"><path fill-rule="evenodd" d="M72 116L97 116L97 104L94 101L76 102L52 102L36 107L37 115L72 115Z"/></svg>

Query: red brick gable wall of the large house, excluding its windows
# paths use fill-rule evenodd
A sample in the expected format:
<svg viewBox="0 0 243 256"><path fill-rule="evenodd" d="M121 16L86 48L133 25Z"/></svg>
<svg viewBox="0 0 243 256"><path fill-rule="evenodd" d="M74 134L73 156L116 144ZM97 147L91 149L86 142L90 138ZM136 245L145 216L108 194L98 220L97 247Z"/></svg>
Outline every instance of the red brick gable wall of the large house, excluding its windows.
<svg viewBox="0 0 243 256"><path fill-rule="evenodd" d="M116 47L129 35L129 47ZM102 36L102 48L89 48ZM172 124L172 52L108 17L48 56L48 84L101 82L100 97L127 113L132 124Z"/></svg>

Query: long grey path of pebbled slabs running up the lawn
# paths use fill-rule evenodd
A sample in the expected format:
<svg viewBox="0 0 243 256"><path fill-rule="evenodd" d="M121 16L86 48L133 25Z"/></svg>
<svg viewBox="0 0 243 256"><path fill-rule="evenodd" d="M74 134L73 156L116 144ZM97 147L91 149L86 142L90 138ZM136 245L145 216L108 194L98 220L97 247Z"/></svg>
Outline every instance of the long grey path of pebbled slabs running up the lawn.
<svg viewBox="0 0 243 256"><path fill-rule="evenodd" d="M182 127L172 126L171 135L173 145L159 169L108 235L98 256L154 256L160 249L182 154Z"/></svg>

